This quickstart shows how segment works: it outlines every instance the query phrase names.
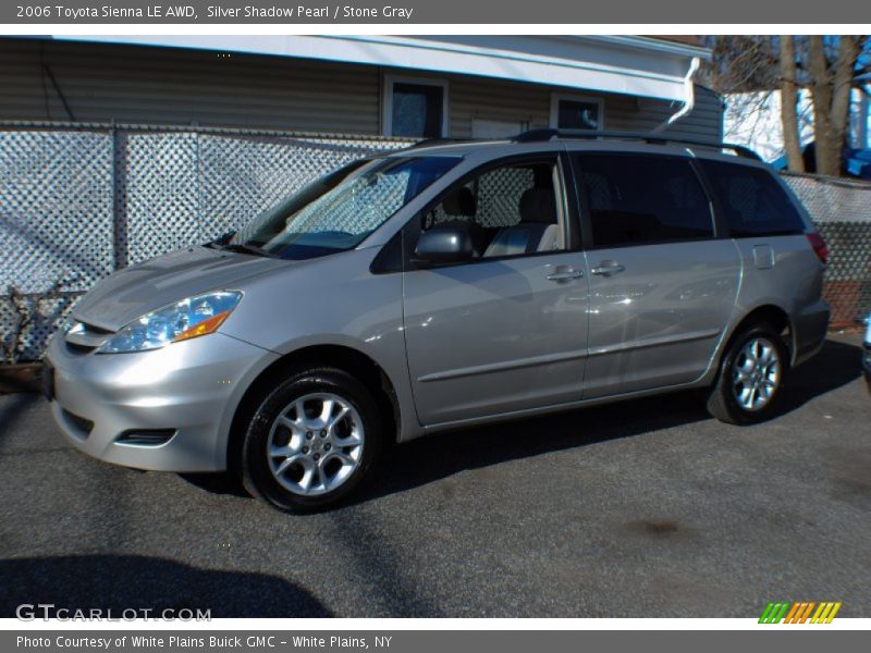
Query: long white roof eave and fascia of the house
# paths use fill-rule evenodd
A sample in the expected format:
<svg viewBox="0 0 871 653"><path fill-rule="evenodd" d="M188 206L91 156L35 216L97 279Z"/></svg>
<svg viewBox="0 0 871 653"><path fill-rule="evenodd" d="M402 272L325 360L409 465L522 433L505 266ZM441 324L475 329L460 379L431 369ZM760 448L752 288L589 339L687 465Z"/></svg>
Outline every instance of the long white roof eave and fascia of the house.
<svg viewBox="0 0 871 653"><path fill-rule="evenodd" d="M369 35L196 35L54 36L56 39L111 41L138 46L193 48L294 57L384 69L480 75L686 101L687 73L709 50L645 36L369 36Z"/></svg>

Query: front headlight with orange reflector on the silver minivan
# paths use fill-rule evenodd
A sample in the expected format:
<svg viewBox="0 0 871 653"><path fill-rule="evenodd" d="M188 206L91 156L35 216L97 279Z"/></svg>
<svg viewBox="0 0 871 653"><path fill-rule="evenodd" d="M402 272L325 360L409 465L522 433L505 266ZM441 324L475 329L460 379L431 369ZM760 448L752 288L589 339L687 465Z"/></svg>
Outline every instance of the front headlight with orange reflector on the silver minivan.
<svg viewBox="0 0 871 653"><path fill-rule="evenodd" d="M221 291L187 297L143 316L107 341L98 354L146 352L213 333L236 308L242 293Z"/></svg>

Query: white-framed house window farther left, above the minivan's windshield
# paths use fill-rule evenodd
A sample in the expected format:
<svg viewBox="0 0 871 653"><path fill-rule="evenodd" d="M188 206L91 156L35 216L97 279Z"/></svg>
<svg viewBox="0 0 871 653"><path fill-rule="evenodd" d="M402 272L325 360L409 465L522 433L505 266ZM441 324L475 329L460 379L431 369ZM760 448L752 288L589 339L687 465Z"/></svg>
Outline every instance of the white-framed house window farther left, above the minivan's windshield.
<svg viewBox="0 0 871 653"><path fill-rule="evenodd" d="M447 133L447 83L384 78L384 133L388 136L441 138Z"/></svg>

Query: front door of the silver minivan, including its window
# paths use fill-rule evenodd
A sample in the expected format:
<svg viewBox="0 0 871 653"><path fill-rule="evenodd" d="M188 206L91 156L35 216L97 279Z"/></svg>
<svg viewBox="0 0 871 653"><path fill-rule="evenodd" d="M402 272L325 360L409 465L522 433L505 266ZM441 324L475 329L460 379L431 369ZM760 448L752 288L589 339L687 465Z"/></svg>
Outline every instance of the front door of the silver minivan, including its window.
<svg viewBox="0 0 871 653"><path fill-rule="evenodd" d="M418 418L431 426L580 398L587 354L584 255L555 155L491 167L421 215L468 225L464 263L408 269L405 338Z"/></svg>

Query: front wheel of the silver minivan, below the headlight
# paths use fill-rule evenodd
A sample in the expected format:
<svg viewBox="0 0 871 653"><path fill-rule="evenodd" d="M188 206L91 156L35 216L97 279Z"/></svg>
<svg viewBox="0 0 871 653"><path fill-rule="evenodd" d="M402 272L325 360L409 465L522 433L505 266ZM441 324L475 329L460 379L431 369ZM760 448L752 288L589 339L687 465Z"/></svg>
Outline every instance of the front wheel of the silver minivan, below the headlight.
<svg viewBox="0 0 871 653"><path fill-rule="evenodd" d="M248 424L243 482L283 510L327 508L369 476L381 442L377 404L359 381L334 368L297 369Z"/></svg>

